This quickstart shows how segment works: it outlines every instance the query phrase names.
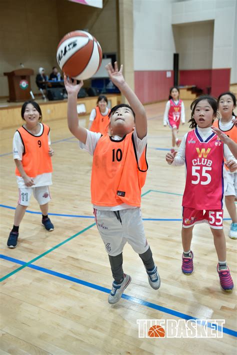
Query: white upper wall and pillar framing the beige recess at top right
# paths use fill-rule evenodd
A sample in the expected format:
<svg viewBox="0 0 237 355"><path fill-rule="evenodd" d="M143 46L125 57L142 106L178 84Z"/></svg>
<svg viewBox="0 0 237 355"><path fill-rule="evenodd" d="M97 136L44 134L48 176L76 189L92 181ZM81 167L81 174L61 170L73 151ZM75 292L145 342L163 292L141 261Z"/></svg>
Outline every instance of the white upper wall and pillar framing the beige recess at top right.
<svg viewBox="0 0 237 355"><path fill-rule="evenodd" d="M232 68L231 82L237 82L235 19L236 0L190 0L172 3L172 24L214 20L211 68Z"/></svg>

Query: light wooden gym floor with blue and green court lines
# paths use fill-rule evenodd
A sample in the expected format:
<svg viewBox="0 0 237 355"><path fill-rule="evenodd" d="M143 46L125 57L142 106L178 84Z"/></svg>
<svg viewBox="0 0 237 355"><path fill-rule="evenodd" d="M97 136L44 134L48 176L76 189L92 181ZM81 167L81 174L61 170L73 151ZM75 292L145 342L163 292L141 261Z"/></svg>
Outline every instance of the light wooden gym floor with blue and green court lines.
<svg viewBox="0 0 237 355"><path fill-rule="evenodd" d="M189 102L184 104L188 117ZM171 141L169 129L162 126L164 106L164 102L145 106L149 170L142 190L144 227L161 287L158 291L149 287L141 260L126 245L124 272L132 281L125 290L127 297L114 306L107 303L112 283L108 258L90 218L91 156L79 150L65 119L51 122L55 155L50 213L55 215L50 218L55 229L46 232L40 214L26 213L17 248L8 249L5 244L18 197L10 153L15 128L1 131L0 354L235 354L236 337L230 334L237 331L236 293L220 290L207 225L194 228L193 275L181 273L184 167L170 167L164 159ZM180 137L187 130L187 124L181 126ZM28 211L39 211L33 198ZM228 218L226 210L224 217ZM226 235L229 223L224 222ZM236 243L226 236L235 285ZM223 338L138 338L138 319L186 316L224 319Z"/></svg>

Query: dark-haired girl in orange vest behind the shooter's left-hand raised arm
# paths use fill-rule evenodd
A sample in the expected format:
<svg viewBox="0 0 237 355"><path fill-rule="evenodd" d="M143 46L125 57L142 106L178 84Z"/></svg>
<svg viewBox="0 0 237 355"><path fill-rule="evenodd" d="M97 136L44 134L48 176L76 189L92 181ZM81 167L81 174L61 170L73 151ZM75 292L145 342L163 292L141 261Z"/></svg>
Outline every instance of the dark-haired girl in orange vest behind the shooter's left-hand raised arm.
<svg viewBox="0 0 237 355"><path fill-rule="evenodd" d="M104 95L99 95L97 106L92 109L89 116L88 130L91 132L100 132L106 134L109 125L109 108L107 107L108 99Z"/></svg>

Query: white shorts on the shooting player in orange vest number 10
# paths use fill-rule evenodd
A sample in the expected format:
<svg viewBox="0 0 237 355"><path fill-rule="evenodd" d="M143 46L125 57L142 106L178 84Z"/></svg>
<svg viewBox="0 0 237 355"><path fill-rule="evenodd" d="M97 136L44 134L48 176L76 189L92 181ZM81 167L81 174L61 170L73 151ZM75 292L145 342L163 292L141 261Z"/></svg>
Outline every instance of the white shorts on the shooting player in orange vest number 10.
<svg viewBox="0 0 237 355"><path fill-rule="evenodd" d="M144 234L140 208L120 210L119 215L121 222L113 211L94 209L95 222L108 255L120 254L126 242L136 253L145 253L149 245Z"/></svg>

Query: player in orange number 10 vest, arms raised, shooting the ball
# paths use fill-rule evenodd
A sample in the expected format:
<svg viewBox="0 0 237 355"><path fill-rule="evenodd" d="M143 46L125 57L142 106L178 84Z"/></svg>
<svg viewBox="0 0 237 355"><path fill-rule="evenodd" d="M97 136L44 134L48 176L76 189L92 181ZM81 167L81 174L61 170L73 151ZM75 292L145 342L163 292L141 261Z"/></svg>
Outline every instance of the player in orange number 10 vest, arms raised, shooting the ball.
<svg viewBox="0 0 237 355"><path fill-rule="evenodd" d="M104 243L113 276L108 302L119 301L131 281L123 273L122 250L126 242L139 254L148 275L149 285L157 290L160 278L144 235L140 212L140 193L148 168L145 159L147 120L144 107L125 82L117 63L106 65L110 80L126 97L129 105L120 104L110 111L110 135L90 132L78 125L77 93L83 82L72 83L64 75L68 94L67 120L80 147L93 155L91 202L99 234Z"/></svg>

